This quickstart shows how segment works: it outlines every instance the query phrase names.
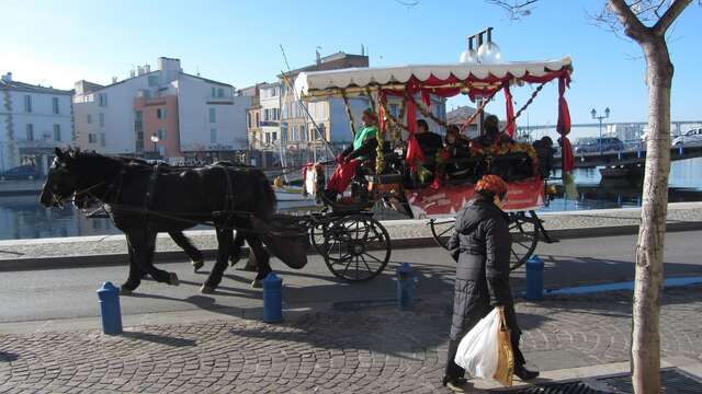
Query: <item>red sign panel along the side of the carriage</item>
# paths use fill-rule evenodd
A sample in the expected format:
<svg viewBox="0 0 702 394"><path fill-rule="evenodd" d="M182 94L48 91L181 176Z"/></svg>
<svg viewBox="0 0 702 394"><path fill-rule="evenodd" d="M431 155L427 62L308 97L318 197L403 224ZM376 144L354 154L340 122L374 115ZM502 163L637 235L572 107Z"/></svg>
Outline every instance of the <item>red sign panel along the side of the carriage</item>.
<svg viewBox="0 0 702 394"><path fill-rule="evenodd" d="M510 182L502 209L523 211L544 205L544 183L540 178ZM473 196L475 185L442 186L405 190L405 197L415 219L455 215Z"/></svg>

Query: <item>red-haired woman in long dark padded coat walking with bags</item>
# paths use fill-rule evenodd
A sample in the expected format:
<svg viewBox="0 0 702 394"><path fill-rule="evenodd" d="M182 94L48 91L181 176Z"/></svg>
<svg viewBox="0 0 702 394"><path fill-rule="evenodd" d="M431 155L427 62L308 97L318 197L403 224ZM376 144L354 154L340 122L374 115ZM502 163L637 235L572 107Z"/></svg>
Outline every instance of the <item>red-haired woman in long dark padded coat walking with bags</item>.
<svg viewBox="0 0 702 394"><path fill-rule="evenodd" d="M456 215L455 232L448 245L457 267L443 385L454 391L465 385L465 371L453 361L458 344L495 306L505 308L514 352L514 374L522 381L539 376L539 372L524 368L524 356L519 350L521 331L509 287L511 240L508 217L500 209L507 184L497 175L485 175L475 190L475 198Z"/></svg>

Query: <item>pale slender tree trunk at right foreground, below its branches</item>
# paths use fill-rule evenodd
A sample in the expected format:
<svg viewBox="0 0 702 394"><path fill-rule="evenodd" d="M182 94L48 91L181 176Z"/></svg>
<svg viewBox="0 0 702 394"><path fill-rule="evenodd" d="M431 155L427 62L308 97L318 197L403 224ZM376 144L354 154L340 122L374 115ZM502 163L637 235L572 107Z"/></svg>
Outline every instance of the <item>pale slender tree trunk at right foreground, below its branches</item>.
<svg viewBox="0 0 702 394"><path fill-rule="evenodd" d="M665 37L639 43L646 58L648 140L632 327L632 382L637 394L660 391L660 293L670 173L670 89L672 63Z"/></svg>

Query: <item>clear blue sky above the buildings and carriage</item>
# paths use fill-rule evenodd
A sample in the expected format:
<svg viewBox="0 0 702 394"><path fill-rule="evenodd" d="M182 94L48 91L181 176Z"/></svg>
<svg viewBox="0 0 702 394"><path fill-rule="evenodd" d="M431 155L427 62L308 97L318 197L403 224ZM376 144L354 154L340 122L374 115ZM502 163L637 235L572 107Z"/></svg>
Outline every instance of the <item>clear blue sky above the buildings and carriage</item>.
<svg viewBox="0 0 702 394"><path fill-rule="evenodd" d="M394 0L3 0L0 72L70 89L79 79L124 79L135 65L154 67L157 57L168 56L180 58L186 72L244 88L272 81L285 68L280 44L293 68L313 62L317 46L322 55L355 54L362 44L371 66L450 63L457 61L466 35L492 26L507 61L571 56L567 97L576 123L589 121L592 107L605 106L613 121L646 120L644 59L636 44L588 20L602 3L541 0L531 16L514 22L483 0L421 0L412 8ZM673 119L702 118L701 21L702 7L694 2L670 35ZM514 92L517 108L530 93L529 88ZM450 102L462 104L467 99ZM502 114L500 105L489 109ZM544 89L529 118L555 123L555 86Z"/></svg>

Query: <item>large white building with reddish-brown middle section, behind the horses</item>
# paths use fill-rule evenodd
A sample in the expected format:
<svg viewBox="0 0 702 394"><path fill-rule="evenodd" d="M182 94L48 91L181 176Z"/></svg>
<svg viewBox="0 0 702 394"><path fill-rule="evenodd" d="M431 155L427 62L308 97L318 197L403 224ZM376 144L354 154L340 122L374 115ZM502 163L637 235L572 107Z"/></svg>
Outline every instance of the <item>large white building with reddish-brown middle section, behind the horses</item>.
<svg viewBox="0 0 702 394"><path fill-rule="evenodd" d="M77 142L112 154L158 151L173 161L245 150L249 103L230 84L188 74L179 59L160 57L157 70L139 67L106 86L76 83Z"/></svg>

